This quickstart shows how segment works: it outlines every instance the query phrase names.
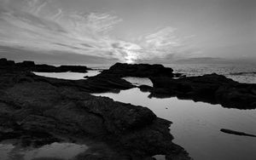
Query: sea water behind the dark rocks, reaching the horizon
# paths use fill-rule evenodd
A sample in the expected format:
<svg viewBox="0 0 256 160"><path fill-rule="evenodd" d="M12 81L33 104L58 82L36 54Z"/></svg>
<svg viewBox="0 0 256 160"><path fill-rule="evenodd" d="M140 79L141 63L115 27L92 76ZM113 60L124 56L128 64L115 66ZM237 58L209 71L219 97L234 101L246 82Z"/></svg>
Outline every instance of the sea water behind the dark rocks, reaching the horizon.
<svg viewBox="0 0 256 160"><path fill-rule="evenodd" d="M84 76L95 76L100 70L108 69L113 64L79 64L88 66L95 71L88 73L40 73L40 76L58 77L63 79L83 79ZM204 74L217 73L230 77L240 83L256 83L256 64L163 64L166 67L172 67L174 72L183 73L187 77L201 76ZM97 71L99 70L99 71ZM72 77L71 77L72 75Z"/></svg>

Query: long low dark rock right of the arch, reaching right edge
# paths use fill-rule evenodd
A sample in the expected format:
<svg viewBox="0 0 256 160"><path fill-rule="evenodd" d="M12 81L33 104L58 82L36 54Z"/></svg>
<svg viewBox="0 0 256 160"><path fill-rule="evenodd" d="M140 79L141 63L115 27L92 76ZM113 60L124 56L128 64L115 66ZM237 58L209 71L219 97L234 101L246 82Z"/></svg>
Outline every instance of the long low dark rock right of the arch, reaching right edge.
<svg viewBox="0 0 256 160"><path fill-rule="evenodd" d="M199 77L150 77L151 96L177 96L179 99L204 101L238 109L256 108L256 84L237 83L212 73Z"/></svg>

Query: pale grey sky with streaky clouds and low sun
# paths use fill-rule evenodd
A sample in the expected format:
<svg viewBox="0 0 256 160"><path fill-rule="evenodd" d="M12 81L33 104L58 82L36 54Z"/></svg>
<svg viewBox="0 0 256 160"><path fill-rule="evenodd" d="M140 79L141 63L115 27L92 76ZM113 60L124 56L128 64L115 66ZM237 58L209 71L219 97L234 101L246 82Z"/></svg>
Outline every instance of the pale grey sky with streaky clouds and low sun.
<svg viewBox="0 0 256 160"><path fill-rule="evenodd" d="M19 57L27 51L34 60L37 55L128 63L197 57L256 60L255 0L0 0L0 4L0 55L16 49Z"/></svg>

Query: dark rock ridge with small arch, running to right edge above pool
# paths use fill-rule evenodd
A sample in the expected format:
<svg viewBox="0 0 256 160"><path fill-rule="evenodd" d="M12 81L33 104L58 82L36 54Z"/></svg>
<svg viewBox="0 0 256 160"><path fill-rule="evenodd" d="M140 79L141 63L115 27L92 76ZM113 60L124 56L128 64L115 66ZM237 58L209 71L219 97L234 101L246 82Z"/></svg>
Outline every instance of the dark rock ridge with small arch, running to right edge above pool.
<svg viewBox="0 0 256 160"><path fill-rule="evenodd" d="M185 77L161 65L128 65L117 63L96 77L148 77L153 87L138 88L151 97L173 97L220 104L227 108L255 109L256 84L238 83L216 73Z"/></svg>

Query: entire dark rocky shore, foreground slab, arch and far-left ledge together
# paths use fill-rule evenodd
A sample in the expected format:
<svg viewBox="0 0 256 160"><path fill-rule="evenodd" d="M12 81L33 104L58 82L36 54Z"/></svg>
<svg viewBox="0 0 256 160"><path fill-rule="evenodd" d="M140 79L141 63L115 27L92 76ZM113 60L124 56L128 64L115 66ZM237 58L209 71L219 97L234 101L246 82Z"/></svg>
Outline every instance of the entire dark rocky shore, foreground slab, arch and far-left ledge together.
<svg viewBox="0 0 256 160"><path fill-rule="evenodd" d="M256 84L237 83L217 74L185 77L161 65L117 63L95 77L63 80L31 71L86 72L90 68L42 66L47 65L0 60L1 141L18 139L21 146L42 146L89 138L108 144L115 154L84 155L84 159L148 160L154 155L166 155L167 160L191 159L172 142L171 122L156 117L146 107L90 95L137 87L122 77L148 77L153 87L138 88L154 97L177 96L230 108L256 108Z"/></svg>

